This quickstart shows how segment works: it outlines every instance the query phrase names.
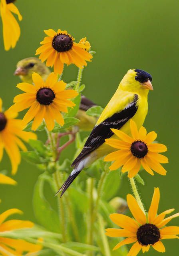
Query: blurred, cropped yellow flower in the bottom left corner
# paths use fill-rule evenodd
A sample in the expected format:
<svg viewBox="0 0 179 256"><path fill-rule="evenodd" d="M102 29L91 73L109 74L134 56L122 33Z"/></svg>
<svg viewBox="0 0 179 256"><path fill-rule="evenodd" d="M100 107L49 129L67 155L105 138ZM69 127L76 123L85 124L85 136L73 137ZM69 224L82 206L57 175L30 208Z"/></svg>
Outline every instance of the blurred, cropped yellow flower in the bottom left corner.
<svg viewBox="0 0 179 256"><path fill-rule="evenodd" d="M34 223L27 220L6 220L12 214L22 214L18 209L10 209L0 214L0 233L18 230L21 228L32 228ZM0 253L2 255L24 255L23 252L35 253L42 249L40 244L32 244L22 239L6 238L0 235ZM28 254L27 254L28 255ZM29 254L30 255L30 254Z"/></svg>

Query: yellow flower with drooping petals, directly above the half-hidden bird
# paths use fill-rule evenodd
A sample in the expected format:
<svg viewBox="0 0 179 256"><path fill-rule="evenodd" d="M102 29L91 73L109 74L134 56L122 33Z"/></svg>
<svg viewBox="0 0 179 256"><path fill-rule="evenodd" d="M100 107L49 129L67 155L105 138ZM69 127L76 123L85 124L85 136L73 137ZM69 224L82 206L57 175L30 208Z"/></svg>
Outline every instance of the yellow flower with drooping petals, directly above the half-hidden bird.
<svg viewBox="0 0 179 256"><path fill-rule="evenodd" d="M67 65L75 64L82 68L86 66L86 60L90 61L93 56L85 51L87 47L84 44L77 44L74 38L68 34L66 30L58 29L55 32L53 29L44 30L47 36L40 43L43 44L36 50L36 55L40 54L39 58L42 62L46 61L46 66L54 66L54 72L61 74L64 68L64 63Z"/></svg>

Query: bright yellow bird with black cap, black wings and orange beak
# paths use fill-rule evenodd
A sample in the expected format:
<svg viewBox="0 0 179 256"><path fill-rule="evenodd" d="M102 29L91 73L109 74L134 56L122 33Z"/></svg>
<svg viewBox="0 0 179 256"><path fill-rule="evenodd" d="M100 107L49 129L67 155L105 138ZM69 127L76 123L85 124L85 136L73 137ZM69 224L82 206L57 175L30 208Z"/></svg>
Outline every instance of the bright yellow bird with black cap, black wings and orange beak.
<svg viewBox="0 0 179 256"><path fill-rule="evenodd" d="M117 138L111 128L130 134L130 118L136 122L138 128L143 125L148 111L147 95L149 90L153 90L151 80L151 75L143 70L128 70L97 120L82 152L72 163L74 169L58 191L62 191L61 196L84 167L115 151L114 148L105 144L105 139Z"/></svg>

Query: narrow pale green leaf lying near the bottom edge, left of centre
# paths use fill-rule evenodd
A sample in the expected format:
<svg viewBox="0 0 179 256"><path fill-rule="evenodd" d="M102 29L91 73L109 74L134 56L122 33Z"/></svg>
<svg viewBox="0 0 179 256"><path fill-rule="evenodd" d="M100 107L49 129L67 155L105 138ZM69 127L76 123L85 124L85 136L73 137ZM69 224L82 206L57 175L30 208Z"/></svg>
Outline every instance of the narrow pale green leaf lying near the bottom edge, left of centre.
<svg viewBox="0 0 179 256"><path fill-rule="evenodd" d="M62 244L63 246L70 248L72 250L75 250L77 252L86 252L86 251L98 251L99 248L96 246L92 246L90 244L83 244L78 242L66 242L65 244Z"/></svg>

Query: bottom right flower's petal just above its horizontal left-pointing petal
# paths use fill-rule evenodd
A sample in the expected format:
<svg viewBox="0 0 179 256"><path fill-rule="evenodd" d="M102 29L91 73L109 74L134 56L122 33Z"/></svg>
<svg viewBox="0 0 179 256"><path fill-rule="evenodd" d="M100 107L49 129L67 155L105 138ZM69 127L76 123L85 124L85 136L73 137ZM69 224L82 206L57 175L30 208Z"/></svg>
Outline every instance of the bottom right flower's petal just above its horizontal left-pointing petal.
<svg viewBox="0 0 179 256"><path fill-rule="evenodd" d="M110 214L109 218L114 222L117 226L129 230L131 232L137 232L139 228L139 224L133 220L132 218L125 216L124 214L113 213Z"/></svg>

